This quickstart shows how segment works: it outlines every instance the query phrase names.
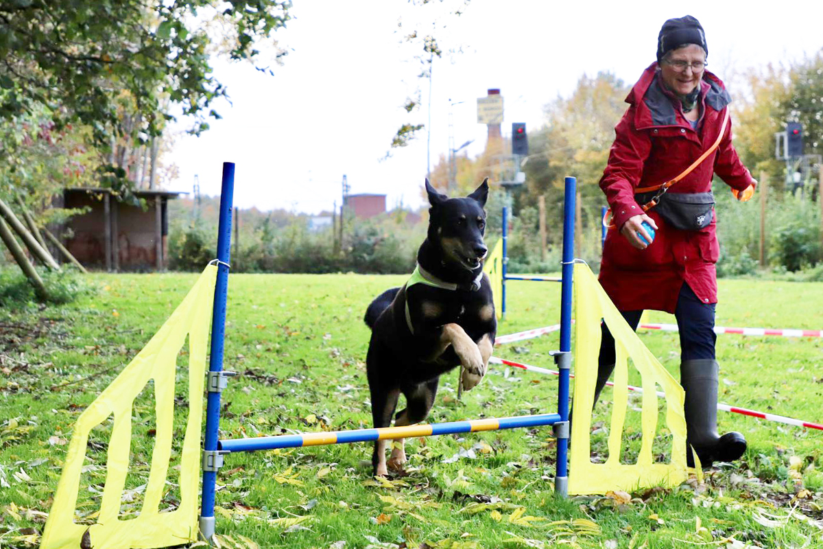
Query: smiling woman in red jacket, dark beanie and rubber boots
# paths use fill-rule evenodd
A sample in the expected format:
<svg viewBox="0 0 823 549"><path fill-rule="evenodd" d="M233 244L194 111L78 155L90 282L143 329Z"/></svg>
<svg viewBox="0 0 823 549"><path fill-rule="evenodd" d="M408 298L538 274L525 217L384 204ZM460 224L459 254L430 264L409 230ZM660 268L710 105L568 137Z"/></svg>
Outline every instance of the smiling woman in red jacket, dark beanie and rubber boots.
<svg viewBox="0 0 823 549"><path fill-rule="evenodd" d="M717 431L719 246L712 178L718 174L737 191L756 183L732 146L731 98L723 81L705 70L708 53L703 26L694 17L663 24L657 63L626 99L630 107L615 128L600 181L614 214L600 283L633 328L644 309L677 317L687 444L704 466L735 460L746 450L740 433ZM655 230L654 240L645 226ZM595 402L616 362L605 324L601 341Z"/></svg>

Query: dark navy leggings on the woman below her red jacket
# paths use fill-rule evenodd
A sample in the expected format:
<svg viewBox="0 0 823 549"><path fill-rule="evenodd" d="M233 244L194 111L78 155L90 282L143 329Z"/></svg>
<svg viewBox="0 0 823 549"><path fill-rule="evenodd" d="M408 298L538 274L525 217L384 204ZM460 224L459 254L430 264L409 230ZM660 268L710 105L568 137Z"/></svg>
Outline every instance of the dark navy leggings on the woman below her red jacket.
<svg viewBox="0 0 823 549"><path fill-rule="evenodd" d="M631 329L637 330L642 310L621 311L623 318ZM677 318L677 328L680 333L680 360L695 359L714 360L714 343L717 334L714 333L714 303L704 303L686 282L677 296L677 307L674 315ZM601 323L601 342L599 365L615 363L615 340L611 337L606 323Z"/></svg>

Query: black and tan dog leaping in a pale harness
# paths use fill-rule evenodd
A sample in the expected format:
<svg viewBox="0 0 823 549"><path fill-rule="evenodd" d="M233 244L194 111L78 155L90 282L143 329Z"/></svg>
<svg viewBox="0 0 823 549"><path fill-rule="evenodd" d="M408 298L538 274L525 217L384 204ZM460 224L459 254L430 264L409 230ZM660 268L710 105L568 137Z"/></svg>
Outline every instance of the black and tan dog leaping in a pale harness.
<svg viewBox="0 0 823 549"><path fill-rule="evenodd" d="M395 426L423 421L435 402L439 376L463 365L463 388L480 383L495 341L497 320L489 277L483 272L488 179L467 198L447 198L425 181L429 231L417 268L401 288L379 295L365 313L372 330L366 371L374 427L388 427L400 393L406 408ZM375 475L385 475L385 440L374 444ZM406 462L403 440L388 465Z"/></svg>

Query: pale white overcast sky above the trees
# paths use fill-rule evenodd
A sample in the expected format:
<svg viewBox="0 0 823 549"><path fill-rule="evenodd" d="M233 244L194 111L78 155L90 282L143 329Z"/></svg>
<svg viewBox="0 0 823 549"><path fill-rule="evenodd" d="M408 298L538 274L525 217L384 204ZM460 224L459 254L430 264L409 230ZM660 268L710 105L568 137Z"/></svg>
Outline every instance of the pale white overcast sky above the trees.
<svg viewBox="0 0 823 549"><path fill-rule="evenodd" d="M236 164L235 206L298 212L330 210L341 200L343 174L351 193L382 193L389 208L421 204L427 135L409 147L389 143L402 123L428 124L428 82L421 111L402 104L417 86L420 66L402 36L437 18L441 49L431 81L432 167L449 149L449 105L457 146L473 139L479 154L486 126L477 123L477 98L489 88L504 96L503 131L544 122L543 107L568 96L584 73L610 71L634 83L654 60L667 18L697 17L709 46L709 70L733 85L746 67L797 60L823 47L823 1L807 2L548 2L471 0L415 6L406 0L296 0L294 17L277 40L288 50L274 76L249 64L217 63L231 105L201 137L178 137L165 156L179 178L170 190L220 193L221 164ZM689 2L687 2L689 4ZM398 28L402 21L402 28ZM442 28L442 25L447 26ZM478 182L479 183L479 182Z"/></svg>

